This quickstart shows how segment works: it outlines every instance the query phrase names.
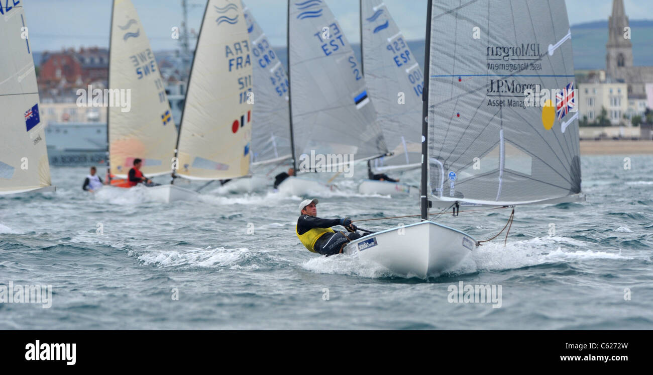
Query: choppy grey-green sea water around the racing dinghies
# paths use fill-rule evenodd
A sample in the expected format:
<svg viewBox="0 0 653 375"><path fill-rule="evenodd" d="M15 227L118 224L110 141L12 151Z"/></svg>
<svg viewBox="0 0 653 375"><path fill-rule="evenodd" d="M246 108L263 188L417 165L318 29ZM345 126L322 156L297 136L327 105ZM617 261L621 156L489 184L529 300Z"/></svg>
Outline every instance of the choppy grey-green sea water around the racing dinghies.
<svg viewBox="0 0 653 375"><path fill-rule="evenodd" d="M0 329L653 329L650 155L629 170L624 156L582 157L586 203L520 206L507 246L500 236L430 280L309 253L295 235L301 197L209 186L160 204L138 189L83 193L86 174L53 168L56 193L0 197L0 284L52 285L50 308L0 303ZM419 213L417 197L360 195L358 182L337 180L318 216ZM508 216L438 221L486 239ZM460 281L500 285L501 306L449 302Z"/></svg>

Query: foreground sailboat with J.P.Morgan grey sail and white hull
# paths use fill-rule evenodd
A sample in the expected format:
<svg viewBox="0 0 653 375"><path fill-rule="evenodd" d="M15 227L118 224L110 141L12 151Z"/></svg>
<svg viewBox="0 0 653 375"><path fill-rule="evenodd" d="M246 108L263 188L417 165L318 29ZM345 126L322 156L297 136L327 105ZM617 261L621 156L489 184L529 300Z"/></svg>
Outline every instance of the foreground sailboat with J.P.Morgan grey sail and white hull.
<svg viewBox="0 0 653 375"><path fill-rule="evenodd" d="M464 212L460 206L506 206L514 214L520 204L584 201L564 0L456 7L429 0L426 43L422 221L344 249L422 278L450 270L479 246L430 221L431 205L456 213ZM547 97L545 90L562 92ZM534 93L541 100L529 101Z"/></svg>

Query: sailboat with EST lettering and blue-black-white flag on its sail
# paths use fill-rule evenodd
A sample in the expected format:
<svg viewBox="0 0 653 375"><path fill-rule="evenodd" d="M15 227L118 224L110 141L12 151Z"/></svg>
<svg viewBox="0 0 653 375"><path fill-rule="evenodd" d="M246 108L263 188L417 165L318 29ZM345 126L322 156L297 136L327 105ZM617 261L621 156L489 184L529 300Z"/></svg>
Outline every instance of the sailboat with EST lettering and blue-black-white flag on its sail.
<svg viewBox="0 0 653 375"><path fill-rule="evenodd" d="M344 155L351 155L352 163L388 154L360 63L325 1L289 0L287 26L295 171L298 161L308 165L307 156L341 155L342 165ZM324 167L333 173L338 163ZM311 178L291 176L279 191L315 195L326 188Z"/></svg>

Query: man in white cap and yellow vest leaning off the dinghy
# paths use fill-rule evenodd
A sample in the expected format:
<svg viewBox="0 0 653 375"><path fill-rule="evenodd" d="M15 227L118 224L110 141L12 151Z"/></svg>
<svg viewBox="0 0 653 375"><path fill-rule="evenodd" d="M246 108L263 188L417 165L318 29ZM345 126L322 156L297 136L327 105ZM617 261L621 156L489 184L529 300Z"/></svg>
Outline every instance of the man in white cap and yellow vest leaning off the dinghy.
<svg viewBox="0 0 653 375"><path fill-rule="evenodd" d="M302 244L313 253L334 255L342 253L342 248L351 240L360 238L357 228L349 218L321 219L317 217L317 199L306 199L299 204L301 216L297 220L295 232ZM336 232L331 227L342 225L349 233Z"/></svg>

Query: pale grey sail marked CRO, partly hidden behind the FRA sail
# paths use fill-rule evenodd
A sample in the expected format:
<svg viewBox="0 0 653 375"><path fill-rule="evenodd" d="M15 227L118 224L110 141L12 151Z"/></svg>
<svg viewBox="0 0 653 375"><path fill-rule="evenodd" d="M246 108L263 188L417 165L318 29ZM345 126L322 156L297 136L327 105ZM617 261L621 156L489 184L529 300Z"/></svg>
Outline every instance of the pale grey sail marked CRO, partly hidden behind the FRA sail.
<svg viewBox="0 0 653 375"><path fill-rule="evenodd" d="M288 76L279 55L270 46L268 37L244 3L243 12L251 45L255 85L251 162L264 164L289 159Z"/></svg>

